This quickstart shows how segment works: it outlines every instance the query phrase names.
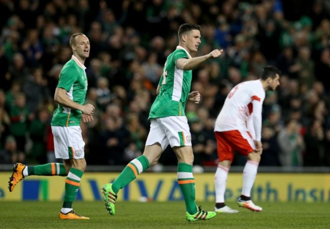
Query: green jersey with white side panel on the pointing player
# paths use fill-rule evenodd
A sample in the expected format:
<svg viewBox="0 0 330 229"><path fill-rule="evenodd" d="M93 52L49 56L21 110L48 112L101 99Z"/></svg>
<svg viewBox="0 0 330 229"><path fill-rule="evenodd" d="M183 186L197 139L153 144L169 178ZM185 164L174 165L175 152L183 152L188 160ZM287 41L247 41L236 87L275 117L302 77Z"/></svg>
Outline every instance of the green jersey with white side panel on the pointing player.
<svg viewBox="0 0 330 229"><path fill-rule="evenodd" d="M177 67L177 60L181 58L188 59L191 56L180 46L168 56L159 80L161 89L150 108L149 119L185 116L184 108L190 92L192 70L184 71Z"/></svg>

